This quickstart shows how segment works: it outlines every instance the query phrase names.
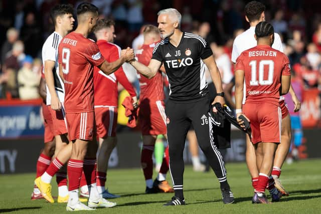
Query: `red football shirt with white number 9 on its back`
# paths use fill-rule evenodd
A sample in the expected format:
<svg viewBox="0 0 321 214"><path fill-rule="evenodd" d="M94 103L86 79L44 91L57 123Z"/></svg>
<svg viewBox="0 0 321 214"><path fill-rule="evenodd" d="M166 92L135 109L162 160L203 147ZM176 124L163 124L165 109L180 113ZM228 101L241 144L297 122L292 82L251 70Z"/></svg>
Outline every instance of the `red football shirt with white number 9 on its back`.
<svg viewBox="0 0 321 214"><path fill-rule="evenodd" d="M66 112L94 111L94 66L105 60L97 44L82 34L71 32L61 40L58 55L65 79Z"/></svg>

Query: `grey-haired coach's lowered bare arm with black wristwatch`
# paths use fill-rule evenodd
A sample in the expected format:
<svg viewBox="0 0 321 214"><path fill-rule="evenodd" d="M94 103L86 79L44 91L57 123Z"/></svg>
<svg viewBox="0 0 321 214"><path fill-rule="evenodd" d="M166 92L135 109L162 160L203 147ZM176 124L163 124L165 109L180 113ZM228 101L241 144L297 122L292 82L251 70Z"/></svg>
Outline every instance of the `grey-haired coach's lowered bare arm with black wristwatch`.
<svg viewBox="0 0 321 214"><path fill-rule="evenodd" d="M222 79L213 55L204 59L203 62L206 64L207 68L209 69L212 81L216 88L216 93L222 93L223 92ZM221 103L221 105L224 106L225 104L224 97L216 96L212 104L214 103Z"/></svg>

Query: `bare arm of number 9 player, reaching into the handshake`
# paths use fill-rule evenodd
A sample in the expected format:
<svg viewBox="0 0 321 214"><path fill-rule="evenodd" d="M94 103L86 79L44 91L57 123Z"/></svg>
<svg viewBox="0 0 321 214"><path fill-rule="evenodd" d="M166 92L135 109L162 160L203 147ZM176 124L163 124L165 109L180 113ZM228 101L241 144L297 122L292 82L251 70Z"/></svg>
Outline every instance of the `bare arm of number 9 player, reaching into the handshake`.
<svg viewBox="0 0 321 214"><path fill-rule="evenodd" d="M106 60L99 66L97 66L102 72L109 75L119 69L124 62L130 61L134 58L134 51L132 49L121 50L121 54L118 60L114 62L107 62Z"/></svg>

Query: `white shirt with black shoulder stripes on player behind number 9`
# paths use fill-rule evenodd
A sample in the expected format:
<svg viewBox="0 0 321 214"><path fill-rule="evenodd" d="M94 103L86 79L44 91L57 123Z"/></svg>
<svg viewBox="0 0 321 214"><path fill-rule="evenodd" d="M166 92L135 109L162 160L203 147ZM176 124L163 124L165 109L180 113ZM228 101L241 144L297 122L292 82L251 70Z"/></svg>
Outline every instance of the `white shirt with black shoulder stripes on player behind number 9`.
<svg viewBox="0 0 321 214"><path fill-rule="evenodd" d="M58 65L58 46L62 39L57 32L52 33L47 40L45 41L44 45L42 46L42 63L45 67L45 61L51 60L56 62L55 63L55 70L53 71L54 80L55 80L55 89L58 95L60 102L64 102L65 99L65 87L64 83L59 76L59 65ZM43 73L45 73L45 69L43 69ZM51 105L51 95L49 92L49 88L46 85L47 91L47 105Z"/></svg>

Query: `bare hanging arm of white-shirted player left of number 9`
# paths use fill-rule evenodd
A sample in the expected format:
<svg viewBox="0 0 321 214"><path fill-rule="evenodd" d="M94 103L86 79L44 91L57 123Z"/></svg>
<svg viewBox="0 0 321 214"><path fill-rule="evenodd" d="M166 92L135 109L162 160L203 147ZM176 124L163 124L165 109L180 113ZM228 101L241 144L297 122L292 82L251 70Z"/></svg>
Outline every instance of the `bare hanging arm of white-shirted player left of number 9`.
<svg viewBox="0 0 321 214"><path fill-rule="evenodd" d="M61 103L55 90L55 81L54 81L54 74L53 74L55 64L56 64L55 61L46 60L44 65L44 70L45 70L46 84L48 86L49 93L51 95L51 108L53 110L58 111L61 109Z"/></svg>

